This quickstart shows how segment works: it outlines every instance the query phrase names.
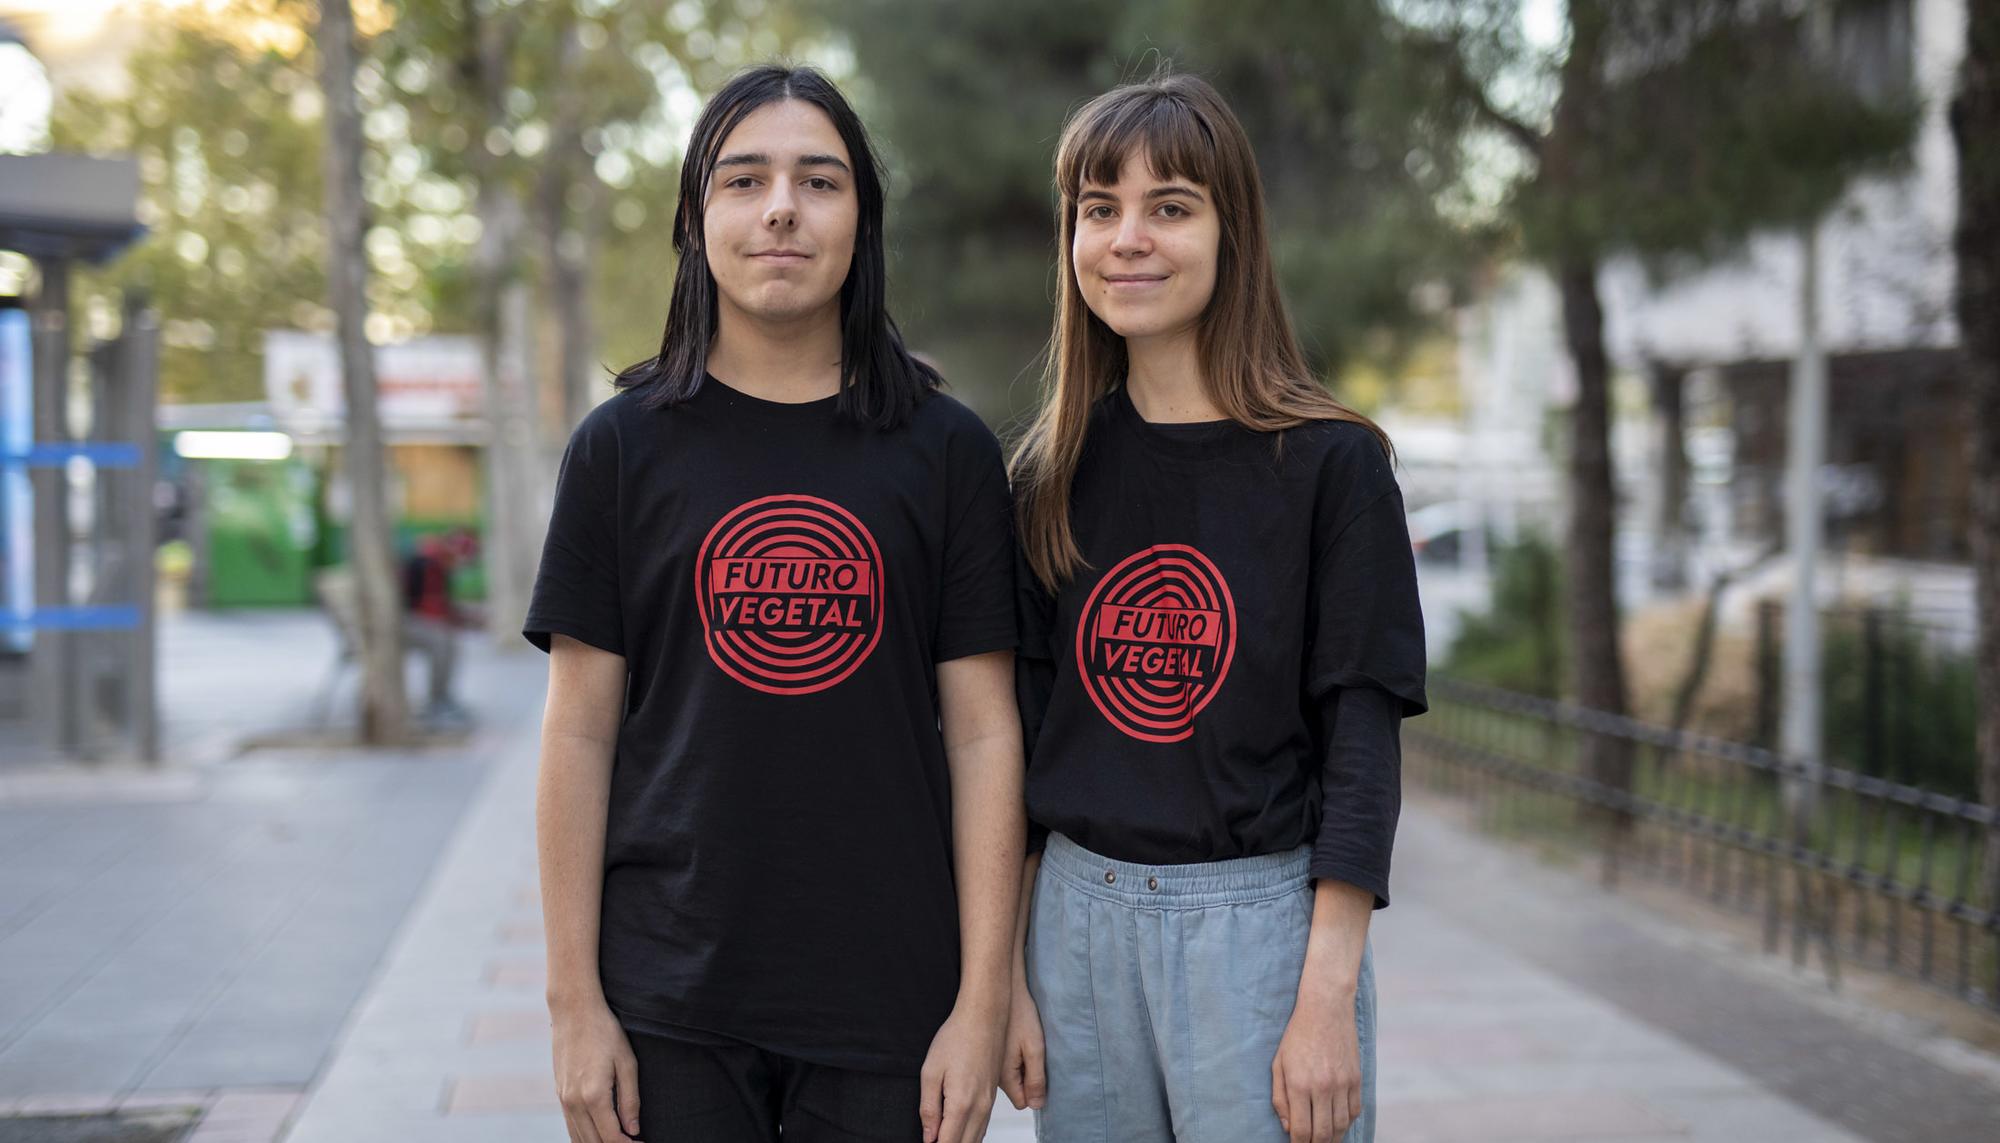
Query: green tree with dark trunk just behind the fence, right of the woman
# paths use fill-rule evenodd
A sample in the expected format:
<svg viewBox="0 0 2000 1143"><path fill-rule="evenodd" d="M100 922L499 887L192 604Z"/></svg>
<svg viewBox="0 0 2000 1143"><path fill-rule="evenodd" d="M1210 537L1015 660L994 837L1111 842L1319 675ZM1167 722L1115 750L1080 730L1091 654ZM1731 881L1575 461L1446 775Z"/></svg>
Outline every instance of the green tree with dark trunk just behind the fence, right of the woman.
<svg viewBox="0 0 2000 1143"><path fill-rule="evenodd" d="M1614 595L1606 258L1710 258L1824 214L1902 158L1906 98L1864 98L1808 46L1804 16L1758 0L1570 0L1562 42L1528 42L1512 0L1404 2L1396 74L1438 148L1510 148L1490 194L1562 296L1576 370L1566 550L1572 693L1626 713ZM1494 166L1474 172L1494 178ZM1512 174L1508 174L1512 172ZM1588 773L1626 785L1630 753L1586 741Z"/></svg>

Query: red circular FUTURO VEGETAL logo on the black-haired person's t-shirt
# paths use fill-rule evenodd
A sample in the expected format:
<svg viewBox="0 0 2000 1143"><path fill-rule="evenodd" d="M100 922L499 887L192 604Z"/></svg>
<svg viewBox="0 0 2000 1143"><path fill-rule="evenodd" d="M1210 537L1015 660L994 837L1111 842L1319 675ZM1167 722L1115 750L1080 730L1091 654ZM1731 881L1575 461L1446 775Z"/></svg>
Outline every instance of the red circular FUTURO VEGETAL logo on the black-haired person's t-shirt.
<svg viewBox="0 0 2000 1143"><path fill-rule="evenodd" d="M882 552L854 514L816 496L728 512L694 560L708 657L774 695L824 691L882 639Z"/></svg>

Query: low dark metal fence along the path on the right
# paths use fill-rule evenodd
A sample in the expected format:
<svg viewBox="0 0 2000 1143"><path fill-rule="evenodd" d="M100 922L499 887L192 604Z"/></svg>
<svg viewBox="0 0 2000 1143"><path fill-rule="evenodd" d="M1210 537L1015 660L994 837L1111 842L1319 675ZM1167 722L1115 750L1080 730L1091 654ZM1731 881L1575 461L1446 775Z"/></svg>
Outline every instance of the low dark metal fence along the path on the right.
<svg viewBox="0 0 2000 1143"><path fill-rule="evenodd" d="M1404 731L1406 767L1490 829L1596 847L1606 881L1644 873L1762 915L1766 953L1816 957L1830 983L1866 963L2000 1009L2000 913L1982 883L1994 809L1456 679L1432 677L1430 697Z"/></svg>

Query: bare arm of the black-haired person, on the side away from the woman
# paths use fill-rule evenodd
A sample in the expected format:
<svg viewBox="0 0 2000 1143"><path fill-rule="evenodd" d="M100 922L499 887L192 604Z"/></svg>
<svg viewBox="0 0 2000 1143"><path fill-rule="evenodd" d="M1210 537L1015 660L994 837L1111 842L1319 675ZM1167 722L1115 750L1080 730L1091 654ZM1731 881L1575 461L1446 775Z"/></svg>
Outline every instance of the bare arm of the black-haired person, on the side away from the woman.
<svg viewBox="0 0 2000 1143"><path fill-rule="evenodd" d="M572 1143L638 1135L638 1063L598 977L604 827L624 689L624 655L550 637L536 845L556 1093Z"/></svg>

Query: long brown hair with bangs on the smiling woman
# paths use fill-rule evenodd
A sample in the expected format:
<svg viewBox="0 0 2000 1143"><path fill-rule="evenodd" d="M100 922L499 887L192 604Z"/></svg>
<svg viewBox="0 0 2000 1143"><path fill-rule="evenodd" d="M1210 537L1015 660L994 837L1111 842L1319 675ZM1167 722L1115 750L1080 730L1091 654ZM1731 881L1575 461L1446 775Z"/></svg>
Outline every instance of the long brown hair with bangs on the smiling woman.
<svg viewBox="0 0 2000 1143"><path fill-rule="evenodd" d="M1126 380L1124 338L1090 312L1070 262L1076 194L1084 182L1116 184L1134 150L1146 156L1156 178L1186 178L1208 188L1222 222L1216 292L1196 332L1210 404L1260 432L1354 422L1390 450L1374 422L1334 400L1306 368L1270 266L1264 184L1236 114L1196 76L1166 74L1112 88L1070 116L1056 148L1062 286L1042 374L1042 408L1010 472L1022 548L1050 591L1086 566L1070 528L1070 484L1084 456L1090 410Z"/></svg>

